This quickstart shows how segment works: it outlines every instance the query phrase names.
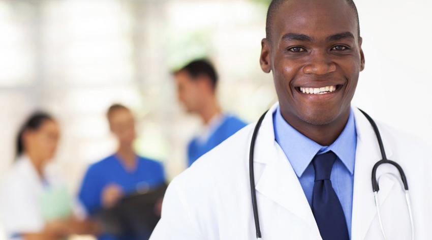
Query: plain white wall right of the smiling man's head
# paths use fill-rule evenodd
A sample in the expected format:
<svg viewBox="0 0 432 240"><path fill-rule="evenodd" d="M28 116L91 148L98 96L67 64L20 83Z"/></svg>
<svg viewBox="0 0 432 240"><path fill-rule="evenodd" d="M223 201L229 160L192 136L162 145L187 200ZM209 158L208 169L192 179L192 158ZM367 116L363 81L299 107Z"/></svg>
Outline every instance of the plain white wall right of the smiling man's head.
<svg viewBox="0 0 432 240"><path fill-rule="evenodd" d="M354 103L432 142L432 2L355 2L366 66Z"/></svg>

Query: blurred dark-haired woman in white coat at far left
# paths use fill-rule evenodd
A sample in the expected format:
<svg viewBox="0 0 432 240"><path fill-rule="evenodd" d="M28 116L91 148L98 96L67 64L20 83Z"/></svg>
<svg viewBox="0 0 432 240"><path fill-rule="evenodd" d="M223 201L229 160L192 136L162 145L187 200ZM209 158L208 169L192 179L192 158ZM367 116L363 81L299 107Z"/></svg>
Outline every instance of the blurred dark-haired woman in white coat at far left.
<svg viewBox="0 0 432 240"><path fill-rule="evenodd" d="M60 129L44 112L31 115L16 139L16 161L0 186L0 216L8 239L51 240L94 233L96 225L78 220L61 176L48 167Z"/></svg>

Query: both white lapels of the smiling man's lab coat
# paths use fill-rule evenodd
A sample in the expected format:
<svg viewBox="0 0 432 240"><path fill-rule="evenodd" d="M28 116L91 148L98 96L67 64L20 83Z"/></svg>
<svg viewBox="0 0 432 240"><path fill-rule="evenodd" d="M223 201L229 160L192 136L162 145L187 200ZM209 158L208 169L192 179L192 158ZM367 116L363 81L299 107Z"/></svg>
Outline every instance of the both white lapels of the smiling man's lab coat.
<svg viewBox="0 0 432 240"><path fill-rule="evenodd" d="M256 139L255 166L259 166L257 163L265 164L261 177L256 182L256 190L310 225L311 231L314 231L317 239L320 239L315 218L297 175L282 148L274 140L272 113L278 105L278 103L274 104L266 113ZM354 110L354 117L357 148L351 236L352 240L360 240L364 239L377 214L371 186L371 173L374 164L381 160L381 154L371 124L358 109ZM383 144L387 157L390 158L392 151L385 137L383 137ZM382 166L381 168L385 171L387 167ZM380 181L380 204L384 204L393 185L394 182L386 178Z"/></svg>

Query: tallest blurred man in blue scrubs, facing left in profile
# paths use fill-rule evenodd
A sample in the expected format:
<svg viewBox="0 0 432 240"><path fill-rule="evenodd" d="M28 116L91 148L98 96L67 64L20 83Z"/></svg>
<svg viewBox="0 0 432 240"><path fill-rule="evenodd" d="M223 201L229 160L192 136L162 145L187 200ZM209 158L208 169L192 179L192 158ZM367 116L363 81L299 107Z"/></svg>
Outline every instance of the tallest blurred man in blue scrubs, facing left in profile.
<svg viewBox="0 0 432 240"><path fill-rule="evenodd" d="M223 113L216 98L218 74L205 59L195 60L174 72L179 101L204 124L188 144L188 166L246 126L238 117Z"/></svg>

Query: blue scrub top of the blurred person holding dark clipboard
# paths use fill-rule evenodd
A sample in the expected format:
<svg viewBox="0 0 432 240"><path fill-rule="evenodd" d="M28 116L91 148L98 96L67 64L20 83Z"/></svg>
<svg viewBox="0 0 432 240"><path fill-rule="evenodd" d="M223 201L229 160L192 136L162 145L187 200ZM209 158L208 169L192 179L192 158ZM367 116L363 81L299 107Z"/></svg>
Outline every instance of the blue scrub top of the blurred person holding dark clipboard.
<svg viewBox="0 0 432 240"><path fill-rule="evenodd" d="M137 158L138 163L135 171L126 170L116 155L111 155L88 168L79 192L79 200L89 215L95 214L102 208L102 190L109 184L119 185L128 194L144 186L155 188L165 183L161 163L141 156L137 156ZM98 239L134 240L130 237L115 238L107 234L99 236Z"/></svg>

